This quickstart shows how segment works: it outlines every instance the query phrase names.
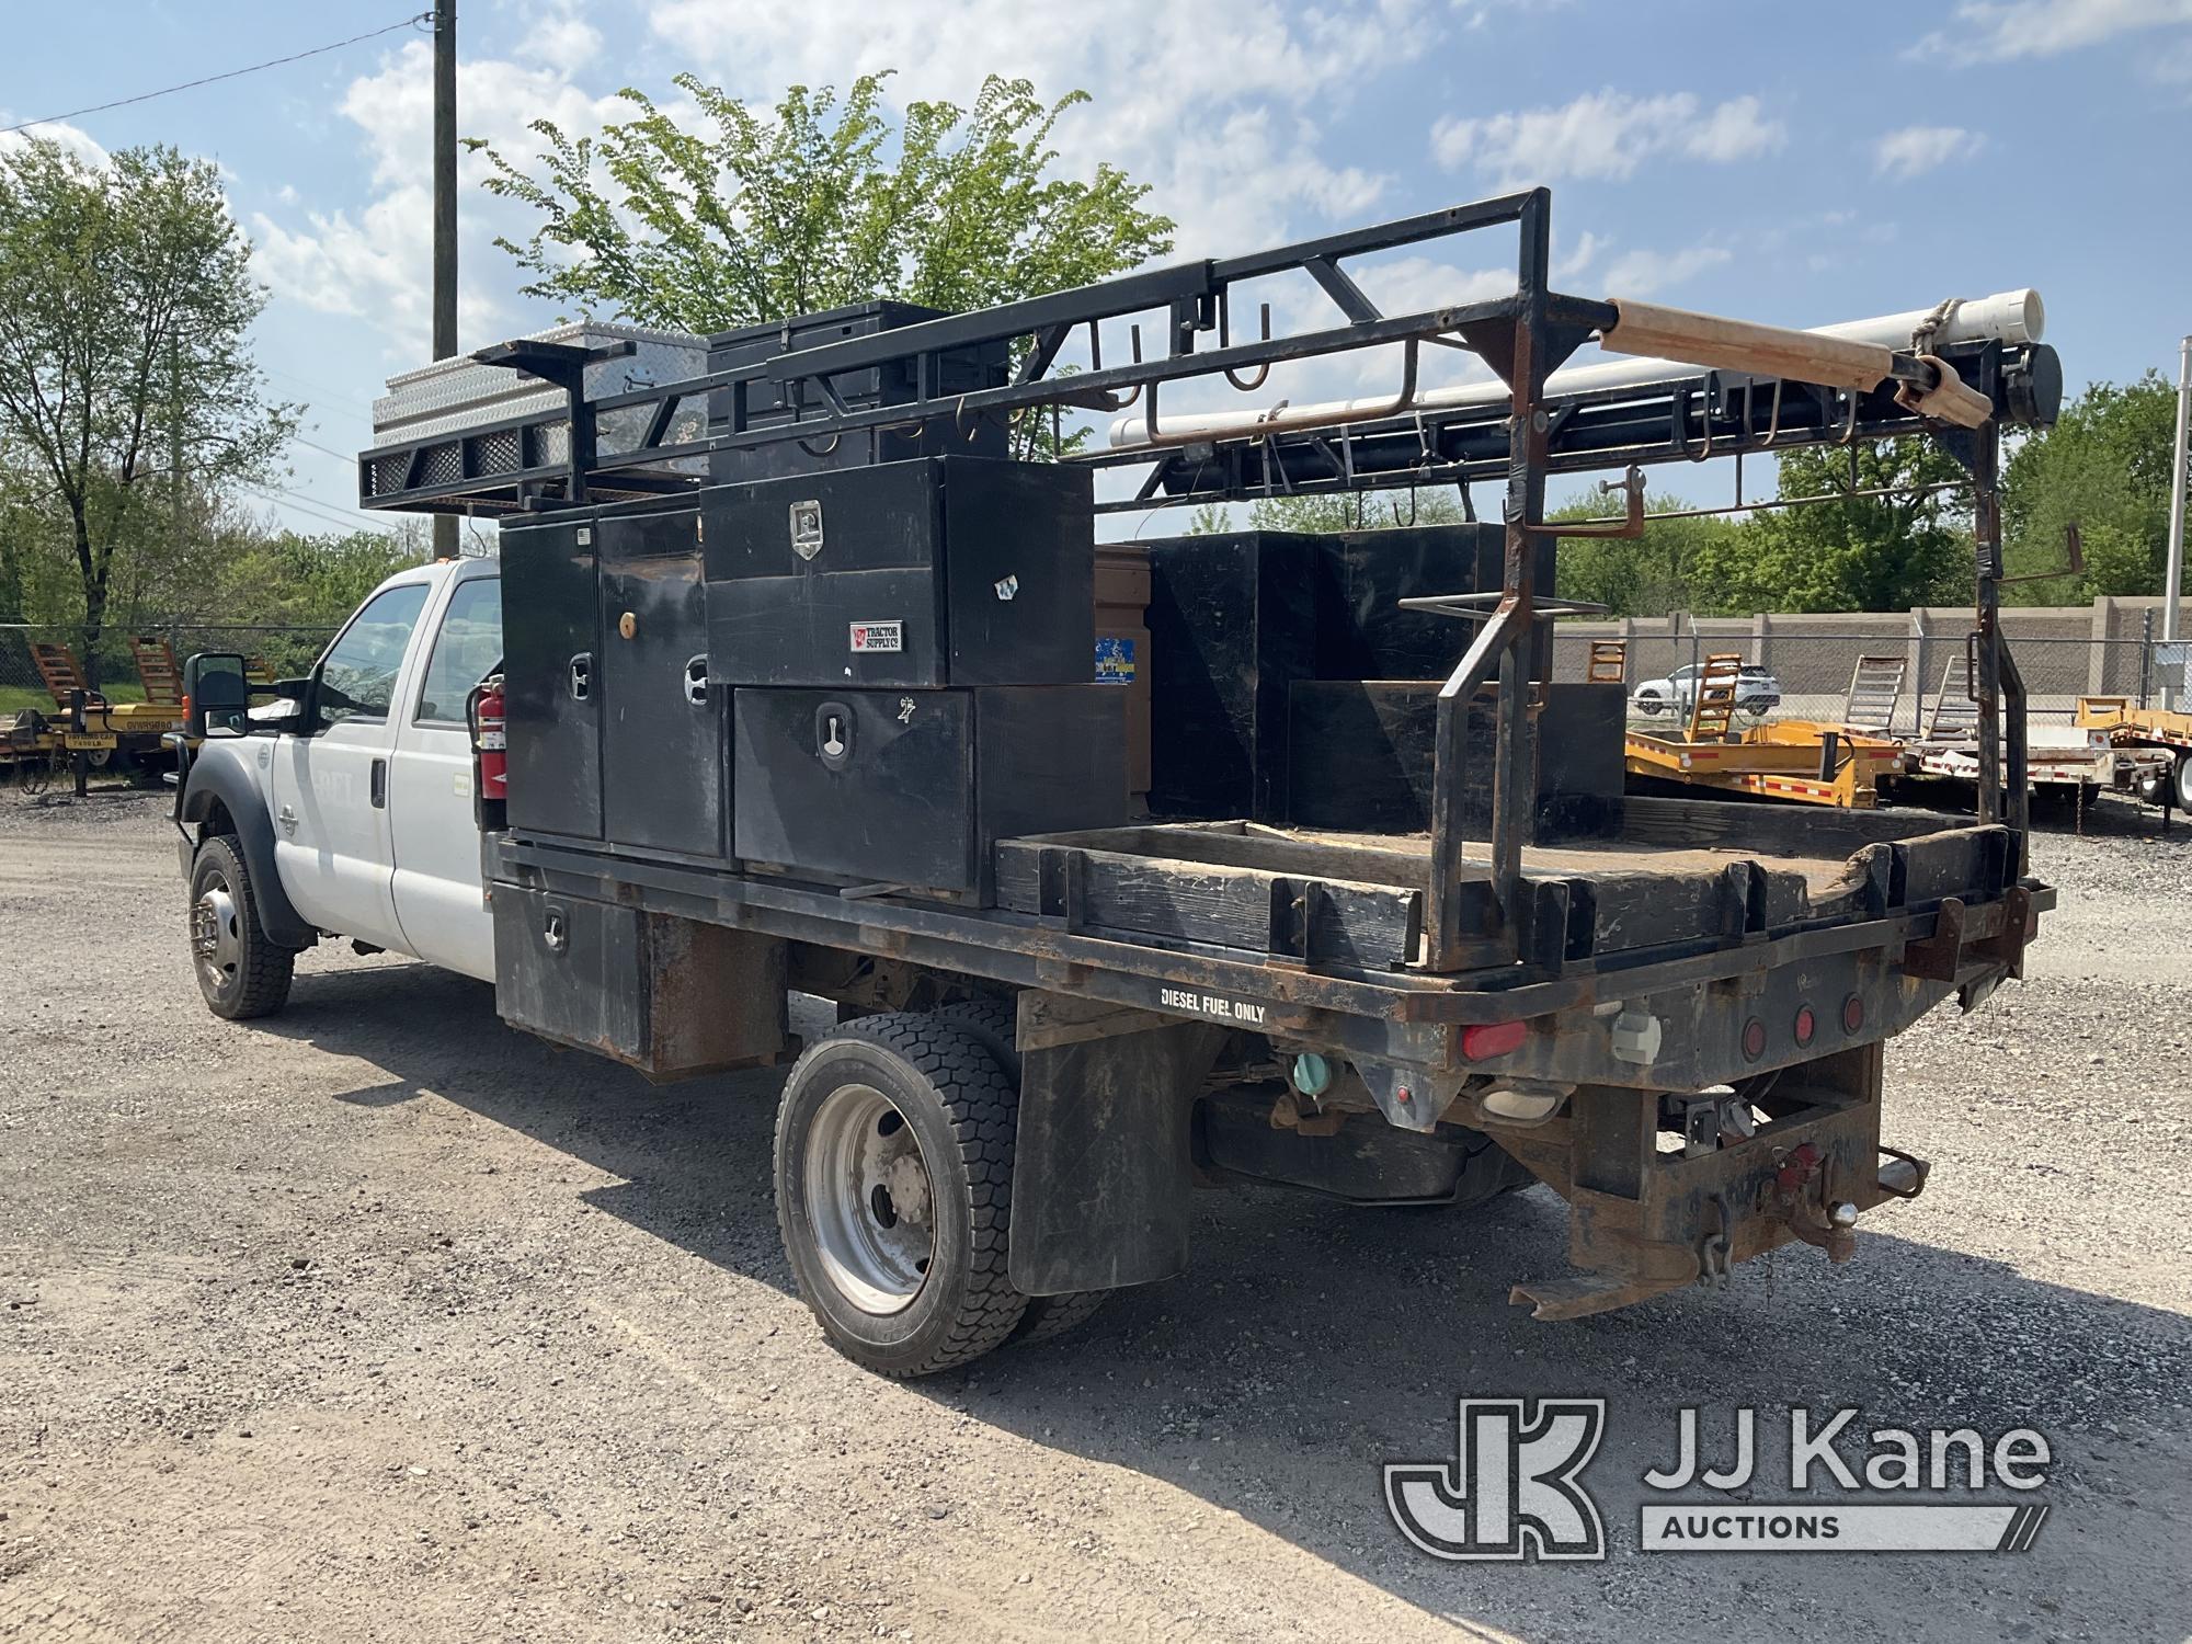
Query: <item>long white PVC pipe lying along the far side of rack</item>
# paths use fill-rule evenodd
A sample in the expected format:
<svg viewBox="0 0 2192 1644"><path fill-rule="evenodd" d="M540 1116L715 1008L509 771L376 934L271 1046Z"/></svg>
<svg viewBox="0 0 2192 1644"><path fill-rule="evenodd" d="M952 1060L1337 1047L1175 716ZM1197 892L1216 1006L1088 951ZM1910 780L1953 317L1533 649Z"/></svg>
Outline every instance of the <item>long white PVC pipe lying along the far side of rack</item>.
<svg viewBox="0 0 2192 1644"><path fill-rule="evenodd" d="M1909 313L1883 313L1872 320L1843 320L1841 324L1811 327L1822 338L1846 338L1850 342L1872 342L1883 349L1909 349L1911 333L1918 331L1933 309L1911 309ZM2047 329L2047 309L2039 292L1997 292L1995 296L1962 298L1940 322L1931 349L1957 342L2039 342ZM1563 366L1545 379L1548 395L1583 395L1600 388L1629 388L1668 377L1694 377L1697 366L1675 359L1611 359L1602 366ZM1409 401L1409 410L1453 410L1458 406L1502 406L1508 399L1506 384L1477 381L1458 388L1427 388ZM1280 414L1285 401L1265 410L1247 412L1188 412L1181 416L1160 416L1157 436L1162 443L1184 438L1212 438L1228 434L1252 434L1263 423ZM1289 427L1306 427L1324 421L1331 425L1361 421L1379 410L1392 414L1392 395L1370 399L1328 399L1313 406L1285 406ZM1401 412L1407 414L1407 412ZM1120 416L1111 423L1114 449L1149 445L1149 427L1142 416Z"/></svg>

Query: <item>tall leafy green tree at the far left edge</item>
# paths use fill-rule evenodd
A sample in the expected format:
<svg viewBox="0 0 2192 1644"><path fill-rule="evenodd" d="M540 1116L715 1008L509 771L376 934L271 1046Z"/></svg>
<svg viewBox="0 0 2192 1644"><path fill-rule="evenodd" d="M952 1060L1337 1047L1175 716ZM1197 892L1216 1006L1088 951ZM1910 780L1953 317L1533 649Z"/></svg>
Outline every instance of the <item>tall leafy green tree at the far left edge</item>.
<svg viewBox="0 0 2192 1644"><path fill-rule="evenodd" d="M250 357L248 261L210 160L0 156L0 460L18 520L50 522L59 541L37 546L75 566L85 669L129 555L162 539L153 515L265 473L294 427Z"/></svg>

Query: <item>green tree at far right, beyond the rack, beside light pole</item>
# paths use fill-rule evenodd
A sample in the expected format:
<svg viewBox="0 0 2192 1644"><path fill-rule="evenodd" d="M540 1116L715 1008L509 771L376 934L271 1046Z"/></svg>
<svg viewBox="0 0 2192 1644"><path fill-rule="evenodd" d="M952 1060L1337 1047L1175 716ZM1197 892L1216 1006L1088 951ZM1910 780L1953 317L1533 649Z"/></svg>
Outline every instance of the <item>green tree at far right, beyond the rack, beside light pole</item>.
<svg viewBox="0 0 2192 1644"><path fill-rule="evenodd" d="M2054 427L2021 441L2001 469L2001 552L2012 576L2065 563L2078 526L2085 574L2019 583L2003 598L2058 605L2096 594L2159 594L2168 555L2177 392L2148 370L2098 381Z"/></svg>

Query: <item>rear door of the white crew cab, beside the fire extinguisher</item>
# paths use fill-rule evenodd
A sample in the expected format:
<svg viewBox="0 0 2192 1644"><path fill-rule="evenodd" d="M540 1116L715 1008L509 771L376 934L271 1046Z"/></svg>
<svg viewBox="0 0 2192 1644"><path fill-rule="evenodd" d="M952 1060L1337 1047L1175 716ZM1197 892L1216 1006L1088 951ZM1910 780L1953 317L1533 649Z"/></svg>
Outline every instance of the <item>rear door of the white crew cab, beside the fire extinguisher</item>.
<svg viewBox="0 0 2192 1644"><path fill-rule="evenodd" d="M410 690L388 767L397 923L410 954L493 982L495 923L480 894L465 701L502 662L502 579L456 579L421 655L425 669Z"/></svg>

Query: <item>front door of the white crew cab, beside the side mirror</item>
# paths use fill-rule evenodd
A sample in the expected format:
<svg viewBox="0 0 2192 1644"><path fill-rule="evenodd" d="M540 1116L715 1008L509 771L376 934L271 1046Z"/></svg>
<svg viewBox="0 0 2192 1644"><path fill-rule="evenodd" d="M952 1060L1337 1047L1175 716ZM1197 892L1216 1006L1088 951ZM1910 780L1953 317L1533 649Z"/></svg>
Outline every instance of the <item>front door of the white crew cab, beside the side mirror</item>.
<svg viewBox="0 0 2192 1644"><path fill-rule="evenodd" d="M274 747L274 868L320 929L401 947L390 892L388 756L403 658L430 581L357 607L313 673L313 715Z"/></svg>

